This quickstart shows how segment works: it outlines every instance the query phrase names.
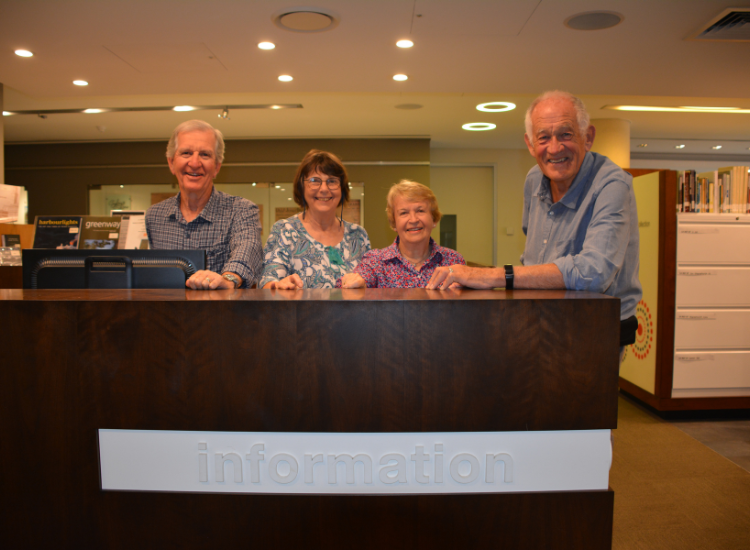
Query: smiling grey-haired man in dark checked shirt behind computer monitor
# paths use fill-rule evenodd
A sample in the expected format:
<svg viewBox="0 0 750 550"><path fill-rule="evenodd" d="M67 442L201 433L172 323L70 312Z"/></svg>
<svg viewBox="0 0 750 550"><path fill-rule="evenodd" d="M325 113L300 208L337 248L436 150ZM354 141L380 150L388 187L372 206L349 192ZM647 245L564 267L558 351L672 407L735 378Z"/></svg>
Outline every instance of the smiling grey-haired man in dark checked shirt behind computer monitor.
<svg viewBox="0 0 750 550"><path fill-rule="evenodd" d="M207 270L185 283L196 290L248 288L263 265L258 207L214 189L224 160L224 137L202 120L183 122L167 145L180 192L146 212L151 248L205 250Z"/></svg>

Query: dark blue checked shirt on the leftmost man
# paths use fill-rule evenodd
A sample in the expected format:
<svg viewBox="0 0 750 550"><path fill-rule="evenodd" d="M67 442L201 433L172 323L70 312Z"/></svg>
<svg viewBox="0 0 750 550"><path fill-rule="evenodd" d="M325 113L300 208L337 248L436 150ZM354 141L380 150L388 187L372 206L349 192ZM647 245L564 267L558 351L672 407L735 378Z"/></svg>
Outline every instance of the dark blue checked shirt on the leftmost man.
<svg viewBox="0 0 750 550"><path fill-rule="evenodd" d="M200 215L188 223L180 212L178 193L148 209L146 231L154 249L205 250L206 269L236 273L242 277L243 288L260 277L258 207L247 199L214 189Z"/></svg>

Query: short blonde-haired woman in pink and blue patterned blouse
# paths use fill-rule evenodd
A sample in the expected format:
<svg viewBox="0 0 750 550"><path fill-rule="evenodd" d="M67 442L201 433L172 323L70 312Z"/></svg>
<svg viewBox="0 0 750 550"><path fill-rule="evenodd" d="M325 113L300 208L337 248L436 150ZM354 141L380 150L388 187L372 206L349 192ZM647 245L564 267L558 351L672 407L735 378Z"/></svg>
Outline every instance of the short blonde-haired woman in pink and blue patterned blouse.
<svg viewBox="0 0 750 550"><path fill-rule="evenodd" d="M396 241L367 252L353 273L336 282L338 288L420 288L436 267L466 263L461 254L430 237L441 213L429 187L402 180L391 187L386 201L388 221L398 233Z"/></svg>

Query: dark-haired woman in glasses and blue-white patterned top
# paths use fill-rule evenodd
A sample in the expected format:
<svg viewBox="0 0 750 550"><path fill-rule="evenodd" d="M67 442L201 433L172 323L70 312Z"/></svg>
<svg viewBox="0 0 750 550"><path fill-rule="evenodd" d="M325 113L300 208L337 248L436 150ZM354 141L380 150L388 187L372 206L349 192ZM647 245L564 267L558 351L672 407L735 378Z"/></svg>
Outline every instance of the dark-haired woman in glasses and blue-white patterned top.
<svg viewBox="0 0 750 550"><path fill-rule="evenodd" d="M313 149L297 168L294 202L303 211L279 220L263 248L258 288L333 288L370 250L367 232L336 216L349 200L349 178L332 153Z"/></svg>

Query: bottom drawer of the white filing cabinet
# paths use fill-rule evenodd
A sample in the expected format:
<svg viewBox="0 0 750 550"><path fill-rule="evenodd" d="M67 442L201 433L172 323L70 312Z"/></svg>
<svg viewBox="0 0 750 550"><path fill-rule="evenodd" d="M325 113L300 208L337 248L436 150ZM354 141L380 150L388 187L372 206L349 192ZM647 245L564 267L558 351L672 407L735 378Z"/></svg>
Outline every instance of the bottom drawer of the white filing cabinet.
<svg viewBox="0 0 750 550"><path fill-rule="evenodd" d="M750 388L750 351L675 353L672 387Z"/></svg>

